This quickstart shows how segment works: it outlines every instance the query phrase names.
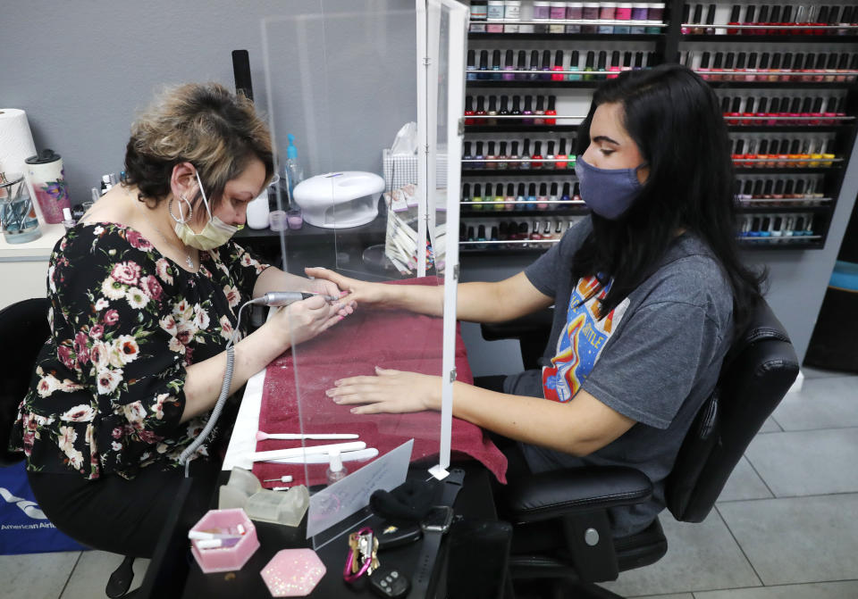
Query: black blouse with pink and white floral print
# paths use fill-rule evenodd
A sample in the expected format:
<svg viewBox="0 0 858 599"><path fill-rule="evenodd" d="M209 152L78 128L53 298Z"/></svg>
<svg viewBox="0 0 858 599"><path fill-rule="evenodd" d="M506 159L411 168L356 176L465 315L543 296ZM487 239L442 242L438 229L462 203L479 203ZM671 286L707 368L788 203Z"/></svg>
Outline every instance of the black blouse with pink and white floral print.
<svg viewBox="0 0 858 599"><path fill-rule="evenodd" d="M232 241L200 262L184 270L116 224L60 239L47 272L51 337L13 431L29 470L134 478L178 466L209 416L179 422L185 367L223 351L267 267Z"/></svg>

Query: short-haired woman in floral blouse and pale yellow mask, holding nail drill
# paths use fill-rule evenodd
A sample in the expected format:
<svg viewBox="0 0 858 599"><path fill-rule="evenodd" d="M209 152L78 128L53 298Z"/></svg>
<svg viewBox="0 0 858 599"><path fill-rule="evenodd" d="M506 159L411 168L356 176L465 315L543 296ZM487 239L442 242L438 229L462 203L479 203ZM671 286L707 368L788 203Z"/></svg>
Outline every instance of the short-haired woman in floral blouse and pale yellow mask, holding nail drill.
<svg viewBox="0 0 858 599"><path fill-rule="evenodd" d="M51 256L51 337L13 437L57 528L97 549L151 556L179 509L179 456L221 391L240 305L268 291L339 290L231 241L273 176L271 137L243 96L217 84L168 90L132 126L125 172ZM314 296L278 312L234 345L230 393L350 311ZM208 508L223 428L191 456L185 513Z"/></svg>

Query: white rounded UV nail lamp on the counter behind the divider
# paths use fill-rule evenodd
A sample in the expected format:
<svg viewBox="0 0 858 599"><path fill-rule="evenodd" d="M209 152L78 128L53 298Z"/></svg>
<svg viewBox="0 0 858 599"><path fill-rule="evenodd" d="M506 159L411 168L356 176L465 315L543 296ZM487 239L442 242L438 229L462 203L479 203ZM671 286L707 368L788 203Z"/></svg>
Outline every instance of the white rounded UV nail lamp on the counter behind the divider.
<svg viewBox="0 0 858 599"><path fill-rule="evenodd" d="M378 216L384 179L372 172L341 171L301 181L292 192L304 220L315 227L348 229Z"/></svg>

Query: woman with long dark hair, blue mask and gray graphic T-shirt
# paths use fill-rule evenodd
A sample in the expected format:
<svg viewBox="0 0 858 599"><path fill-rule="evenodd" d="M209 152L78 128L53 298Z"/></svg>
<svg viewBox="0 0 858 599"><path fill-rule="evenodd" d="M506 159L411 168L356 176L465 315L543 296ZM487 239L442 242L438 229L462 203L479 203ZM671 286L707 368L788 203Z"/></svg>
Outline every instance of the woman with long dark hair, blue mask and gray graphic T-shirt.
<svg viewBox="0 0 858 599"><path fill-rule="evenodd" d="M663 509L664 478L762 278L737 255L727 129L694 72L662 65L607 80L578 140L576 174L591 215L524 272L458 286L461 320L511 320L553 304L543 369L494 390L457 382L453 415L519 441L534 472L643 471L652 501L612 514L614 535L624 537ZM442 312L440 287L307 273L358 304ZM334 385L328 395L356 414L441 405L440 379L423 374L379 368Z"/></svg>

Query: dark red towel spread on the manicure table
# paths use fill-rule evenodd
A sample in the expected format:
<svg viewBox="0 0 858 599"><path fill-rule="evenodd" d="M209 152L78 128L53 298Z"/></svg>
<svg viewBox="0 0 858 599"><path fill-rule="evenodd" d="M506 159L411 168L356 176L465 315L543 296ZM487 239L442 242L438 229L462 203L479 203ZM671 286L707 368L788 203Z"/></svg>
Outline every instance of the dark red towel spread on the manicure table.
<svg viewBox="0 0 858 599"><path fill-rule="evenodd" d="M434 285L434 277L394 281L393 285ZM295 364L298 364L298 385ZM325 331L319 337L299 345L294 352L282 354L265 371L259 430L267 433L357 433L367 447L376 447L379 455L414 438L412 462L437 456L441 431L440 412L357 415L351 405L338 405L324 395L333 381L345 377L374 374L374 366L441 375L442 319L411 312L358 309L354 314ZM456 332L457 379L473 382L467 364L465 345ZM296 387L298 389L296 390ZM300 405L296 401L300 394ZM300 410L300 416L299 416ZM307 445L325 445L345 441L306 441ZM299 447L300 441L265 440L257 442L257 451ZM507 459L484 434L482 428L465 420L453 419L452 460L471 457L506 482ZM367 462L345 462L349 472ZM433 462L437 463L437 462ZM432 463L427 463L427 466ZM327 464L307 466L310 485L324 484ZM257 478L293 477L290 484L305 482L304 465L256 462ZM282 483L264 483L266 487Z"/></svg>

